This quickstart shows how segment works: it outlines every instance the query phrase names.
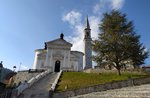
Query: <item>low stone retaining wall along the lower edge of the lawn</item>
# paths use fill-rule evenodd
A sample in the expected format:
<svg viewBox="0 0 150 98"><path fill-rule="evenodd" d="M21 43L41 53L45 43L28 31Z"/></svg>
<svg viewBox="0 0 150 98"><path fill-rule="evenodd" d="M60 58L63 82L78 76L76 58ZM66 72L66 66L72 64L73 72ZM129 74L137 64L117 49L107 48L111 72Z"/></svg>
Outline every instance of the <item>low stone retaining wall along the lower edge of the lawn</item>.
<svg viewBox="0 0 150 98"><path fill-rule="evenodd" d="M150 83L150 77L143 77L143 78L136 78L136 79L129 79L129 80L123 80L123 81L114 81L111 83L105 83L100 85L95 85L91 87L85 87L75 90L69 90L69 91L63 91L63 92L53 92L53 94L50 94L53 98L68 98L73 97L77 95L83 95L88 94L92 92L100 92L100 91L106 91L110 89L118 89L122 87L128 87L128 86L136 86L141 84ZM52 93L50 91L50 93Z"/></svg>

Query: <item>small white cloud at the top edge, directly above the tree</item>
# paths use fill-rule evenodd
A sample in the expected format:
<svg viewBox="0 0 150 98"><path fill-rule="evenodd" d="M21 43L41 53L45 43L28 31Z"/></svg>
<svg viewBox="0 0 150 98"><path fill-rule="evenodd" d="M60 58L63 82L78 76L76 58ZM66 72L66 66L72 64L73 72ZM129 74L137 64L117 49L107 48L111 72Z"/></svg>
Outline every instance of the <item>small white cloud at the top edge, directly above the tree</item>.
<svg viewBox="0 0 150 98"><path fill-rule="evenodd" d="M121 9L124 5L124 0L111 0L112 9Z"/></svg>

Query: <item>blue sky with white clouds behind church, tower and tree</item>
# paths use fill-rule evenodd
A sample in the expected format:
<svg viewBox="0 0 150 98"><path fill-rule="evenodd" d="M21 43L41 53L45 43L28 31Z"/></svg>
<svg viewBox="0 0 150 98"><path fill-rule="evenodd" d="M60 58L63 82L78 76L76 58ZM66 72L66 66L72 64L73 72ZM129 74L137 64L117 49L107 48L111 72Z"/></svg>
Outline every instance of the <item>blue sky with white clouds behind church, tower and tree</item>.
<svg viewBox="0 0 150 98"><path fill-rule="evenodd" d="M150 0L0 0L0 61L12 69L32 68L34 50L58 38L83 51L83 28L88 15L92 38L98 34L102 14L120 10L132 20L141 42L150 48ZM21 67L19 67L21 63ZM150 58L146 60L150 65Z"/></svg>

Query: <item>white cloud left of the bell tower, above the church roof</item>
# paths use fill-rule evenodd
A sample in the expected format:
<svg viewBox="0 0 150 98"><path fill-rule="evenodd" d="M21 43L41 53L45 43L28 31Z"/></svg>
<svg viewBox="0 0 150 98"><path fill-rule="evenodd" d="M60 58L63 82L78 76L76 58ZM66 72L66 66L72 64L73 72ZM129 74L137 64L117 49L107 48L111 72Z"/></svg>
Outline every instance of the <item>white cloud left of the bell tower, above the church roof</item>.
<svg viewBox="0 0 150 98"><path fill-rule="evenodd" d="M73 44L72 50L83 51L83 25L81 24L82 14L77 11L70 11L62 17L62 20L68 22L73 27L73 35L67 36L66 40Z"/></svg>

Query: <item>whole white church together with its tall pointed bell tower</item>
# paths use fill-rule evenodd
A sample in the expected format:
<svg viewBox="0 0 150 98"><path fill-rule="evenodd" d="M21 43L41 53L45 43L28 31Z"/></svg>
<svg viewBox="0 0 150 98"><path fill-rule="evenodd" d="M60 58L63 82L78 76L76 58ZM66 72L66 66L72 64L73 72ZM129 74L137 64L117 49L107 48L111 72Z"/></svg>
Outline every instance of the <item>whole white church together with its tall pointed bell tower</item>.
<svg viewBox="0 0 150 98"><path fill-rule="evenodd" d="M51 72L82 71L92 68L91 29L88 21L84 28L84 53L71 51L72 44L60 38L45 42L44 49L35 50L33 69L49 69Z"/></svg>

